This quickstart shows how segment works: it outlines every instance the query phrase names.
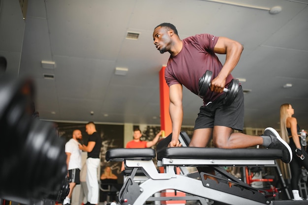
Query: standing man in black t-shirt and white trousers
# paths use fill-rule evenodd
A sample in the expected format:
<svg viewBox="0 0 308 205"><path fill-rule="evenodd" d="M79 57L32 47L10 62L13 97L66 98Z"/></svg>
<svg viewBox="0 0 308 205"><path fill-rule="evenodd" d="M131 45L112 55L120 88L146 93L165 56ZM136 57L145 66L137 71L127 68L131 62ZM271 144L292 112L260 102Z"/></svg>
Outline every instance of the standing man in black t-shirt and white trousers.
<svg viewBox="0 0 308 205"><path fill-rule="evenodd" d="M102 146L102 140L96 131L94 122L88 122L86 124L86 132L89 135L88 145L80 145L79 148L88 152L87 158L87 187L88 187L88 202L86 205L97 205L99 187L97 180L97 171L100 163L100 148Z"/></svg>

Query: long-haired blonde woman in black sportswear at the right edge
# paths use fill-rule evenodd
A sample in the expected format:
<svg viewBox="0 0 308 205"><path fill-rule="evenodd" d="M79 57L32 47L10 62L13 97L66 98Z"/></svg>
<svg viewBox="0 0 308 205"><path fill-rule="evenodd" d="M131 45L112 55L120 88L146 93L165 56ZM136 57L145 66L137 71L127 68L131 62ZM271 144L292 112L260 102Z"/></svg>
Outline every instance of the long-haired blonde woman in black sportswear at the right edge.
<svg viewBox="0 0 308 205"><path fill-rule="evenodd" d="M308 170L308 154L301 142L299 135L300 126L297 124L297 119L292 117L293 115L294 109L291 104L285 103L280 106L281 137L290 145L294 156L290 162L293 200L303 200L299 195L298 182L299 176L302 173L302 167L305 167L305 169ZM305 133L307 134L306 131Z"/></svg>

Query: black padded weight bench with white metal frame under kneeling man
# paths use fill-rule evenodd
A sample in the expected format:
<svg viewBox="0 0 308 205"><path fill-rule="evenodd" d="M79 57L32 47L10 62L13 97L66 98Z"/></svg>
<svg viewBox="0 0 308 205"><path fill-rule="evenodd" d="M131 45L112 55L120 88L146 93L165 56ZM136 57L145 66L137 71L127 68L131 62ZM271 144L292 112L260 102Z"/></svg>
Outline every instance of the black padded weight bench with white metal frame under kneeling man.
<svg viewBox="0 0 308 205"><path fill-rule="evenodd" d="M230 205L292 205L294 201L270 201L264 190L253 188L235 176L228 174L220 166L265 166L275 164L282 157L279 149L221 149L201 147L167 147L171 140L168 136L157 145L157 165L164 167L159 173L153 162L156 157L152 148L115 148L106 152L107 161L125 161L126 167L132 168L119 193L122 205L142 205L146 201L197 200L201 205L218 201ZM169 141L169 142L168 142ZM182 142L181 142L182 141ZM185 133L181 133L180 142L188 145ZM176 167L213 167L221 177L212 180L203 176L209 173L200 172L199 177L186 174L177 175ZM147 179L141 183L134 181L137 170L142 170ZM217 176L216 176L217 177ZM187 194L186 197L153 197L166 189L173 189ZM296 201L296 205L302 202Z"/></svg>

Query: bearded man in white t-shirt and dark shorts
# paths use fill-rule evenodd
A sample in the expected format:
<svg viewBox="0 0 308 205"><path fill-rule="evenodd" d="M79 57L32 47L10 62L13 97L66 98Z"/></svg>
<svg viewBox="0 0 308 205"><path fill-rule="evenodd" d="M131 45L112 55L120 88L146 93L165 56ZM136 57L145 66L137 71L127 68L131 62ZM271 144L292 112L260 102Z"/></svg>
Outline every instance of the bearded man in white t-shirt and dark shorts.
<svg viewBox="0 0 308 205"><path fill-rule="evenodd" d="M65 144L67 177L69 180L69 193L63 201L63 205L70 205L70 199L76 184L80 184L81 150L79 141L82 139L80 130L74 130L72 138Z"/></svg>

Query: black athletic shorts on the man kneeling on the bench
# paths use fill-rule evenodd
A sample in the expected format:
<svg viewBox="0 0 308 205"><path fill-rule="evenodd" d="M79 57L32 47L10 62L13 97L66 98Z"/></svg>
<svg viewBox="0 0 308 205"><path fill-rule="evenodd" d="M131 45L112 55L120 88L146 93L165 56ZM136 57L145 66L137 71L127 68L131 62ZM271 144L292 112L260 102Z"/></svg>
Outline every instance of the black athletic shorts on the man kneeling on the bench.
<svg viewBox="0 0 308 205"><path fill-rule="evenodd" d="M200 107L194 129L213 128L214 126L231 127L243 130L244 127L244 93L242 86L234 101L229 106L223 105L225 93L207 106Z"/></svg>

